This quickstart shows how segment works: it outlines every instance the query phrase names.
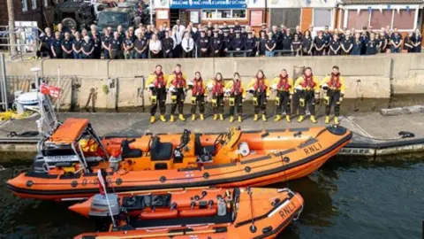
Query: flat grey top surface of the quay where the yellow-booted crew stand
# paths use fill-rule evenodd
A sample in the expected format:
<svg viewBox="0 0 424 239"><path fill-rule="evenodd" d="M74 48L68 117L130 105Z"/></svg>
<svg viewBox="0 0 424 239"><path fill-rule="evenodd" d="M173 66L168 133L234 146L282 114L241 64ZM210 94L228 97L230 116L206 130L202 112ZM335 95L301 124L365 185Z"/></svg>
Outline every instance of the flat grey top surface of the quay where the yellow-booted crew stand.
<svg viewBox="0 0 424 239"><path fill-rule="evenodd" d="M293 118L291 123L285 120L275 122L273 118L263 122L261 120L254 122L252 115L244 116L244 120L239 122L229 122L229 116L224 115L225 120L212 120L210 114L206 119L192 121L191 115L186 114L186 121L177 120L176 122L161 122L156 117L156 122L150 124L150 115L146 112L60 112L59 120L67 118L87 118L92 123L97 135L143 135L147 132L153 133L180 133L187 128L192 132L222 132L233 126L240 126L244 130L252 129L270 129L284 127L316 127L325 126L324 117L319 117L318 123L313 124L306 118L298 123L297 118ZM169 120L169 115L167 116ZM26 120L11 120L4 122L0 126L0 138L5 138L6 131L36 131L35 120L39 116L34 116ZM355 112L347 117L340 117L340 125L350 129L357 135L363 135L366 138L373 139L398 139L399 131L412 132L416 138L424 137L424 120L422 113L382 116L379 112ZM2 131L5 130L5 131Z"/></svg>

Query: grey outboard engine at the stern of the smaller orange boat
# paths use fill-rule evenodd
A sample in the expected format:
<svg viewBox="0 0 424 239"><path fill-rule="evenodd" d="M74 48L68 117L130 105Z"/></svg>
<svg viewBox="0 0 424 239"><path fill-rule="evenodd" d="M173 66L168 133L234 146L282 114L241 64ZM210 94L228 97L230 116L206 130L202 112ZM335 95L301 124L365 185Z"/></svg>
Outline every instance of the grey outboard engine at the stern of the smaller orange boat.
<svg viewBox="0 0 424 239"><path fill-rule="evenodd" d="M120 212L118 202L119 197L117 197L116 194L108 194L107 197L102 194L96 194L95 197L93 197L88 215L90 219L95 221L96 231L108 231L112 223L111 216L115 221L118 220ZM110 212L112 213L111 216Z"/></svg>

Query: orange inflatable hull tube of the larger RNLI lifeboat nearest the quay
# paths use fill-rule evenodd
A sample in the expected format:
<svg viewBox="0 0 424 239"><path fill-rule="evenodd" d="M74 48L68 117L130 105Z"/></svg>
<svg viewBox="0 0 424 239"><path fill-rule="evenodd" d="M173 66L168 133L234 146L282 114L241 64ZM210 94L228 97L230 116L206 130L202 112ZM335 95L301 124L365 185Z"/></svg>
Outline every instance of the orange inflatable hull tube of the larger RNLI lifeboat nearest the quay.
<svg viewBox="0 0 424 239"><path fill-rule="evenodd" d="M223 188L252 187L268 185L279 181L290 181L307 176L317 170L330 157L337 154L352 138L352 133L344 127L316 127L305 129L282 129L261 131L251 137L250 154L243 158L232 158L231 151L220 152L222 157L210 164L188 165L185 167L163 170L137 169L109 171L107 183L116 192L153 189L183 189L190 187L216 186ZM313 132L313 133L309 133ZM240 138L247 137L243 133ZM256 136L257 135L257 136ZM207 140L210 137L210 140ZM201 135L201 141L211 142L216 135ZM283 137L282 141L276 143ZM166 139L166 137L163 137ZM293 139L290 141L290 139ZM111 139L106 139L111 140ZM117 140L117 139L113 139ZM121 139L122 141L122 139ZM258 143L254 143L257 141ZM295 143L292 143L295 142ZM137 143L137 141L136 141ZM272 144L280 149L265 149ZM106 143L106 147L109 146ZM256 148L254 148L256 147ZM268 147L268 146L267 146ZM264 151L266 150L266 151ZM237 151L237 150L236 150ZM227 157L227 158L226 158ZM132 166L145 164L145 159L127 160ZM228 163L220 163L227 160ZM170 161L148 161L155 164L169 165ZM175 164L175 160L174 160ZM98 191L97 169L92 173L63 173L51 171L38 173L28 171L7 182L9 189L19 197L30 197L46 200L79 199L95 195Z"/></svg>

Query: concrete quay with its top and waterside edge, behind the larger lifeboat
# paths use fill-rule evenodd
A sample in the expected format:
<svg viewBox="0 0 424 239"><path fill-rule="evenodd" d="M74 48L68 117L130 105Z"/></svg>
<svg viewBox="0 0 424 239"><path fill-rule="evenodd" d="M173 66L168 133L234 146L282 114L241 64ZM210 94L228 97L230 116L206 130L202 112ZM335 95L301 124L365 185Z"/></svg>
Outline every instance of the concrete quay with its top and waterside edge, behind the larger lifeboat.
<svg viewBox="0 0 424 239"><path fill-rule="evenodd" d="M11 152L30 153L36 151L36 143L39 137L7 137L6 131L36 130L34 116L26 120L11 120L4 122L0 127L0 152L4 156ZM174 123L156 121L149 123L148 113L89 113L89 112L63 112L58 115L59 120L67 118L87 118L95 127L95 131L101 136L128 136L136 137L146 133L181 133L187 128L192 132L223 132L233 126L240 126L244 130L275 129L275 128L305 128L325 126L323 117L318 118L318 123L313 124L309 120L298 123L293 119L291 123L285 120L274 122L269 118L267 122L254 122L252 115L246 115L241 123L230 123L228 115L224 121L214 121L210 114L204 121L177 120ZM368 160L381 160L382 157L395 156L397 159L406 159L424 152L424 121L422 113L383 116L379 112L355 112L347 117L340 118L340 124L350 129L354 135L351 143L339 152L341 156L360 156ZM5 130L5 131L4 131ZM401 139L400 131L413 133L412 138ZM7 157L0 157L0 161Z"/></svg>

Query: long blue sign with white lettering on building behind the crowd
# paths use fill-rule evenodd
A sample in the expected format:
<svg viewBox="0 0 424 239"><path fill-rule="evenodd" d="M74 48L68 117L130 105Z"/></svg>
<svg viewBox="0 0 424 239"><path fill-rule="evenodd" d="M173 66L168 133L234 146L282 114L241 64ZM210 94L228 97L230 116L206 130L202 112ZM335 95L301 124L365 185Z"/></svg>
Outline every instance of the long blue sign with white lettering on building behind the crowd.
<svg viewBox="0 0 424 239"><path fill-rule="evenodd" d="M246 0L170 0L170 8L181 8L181 9L246 8Z"/></svg>

